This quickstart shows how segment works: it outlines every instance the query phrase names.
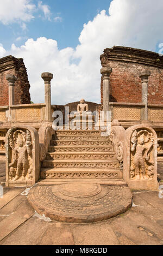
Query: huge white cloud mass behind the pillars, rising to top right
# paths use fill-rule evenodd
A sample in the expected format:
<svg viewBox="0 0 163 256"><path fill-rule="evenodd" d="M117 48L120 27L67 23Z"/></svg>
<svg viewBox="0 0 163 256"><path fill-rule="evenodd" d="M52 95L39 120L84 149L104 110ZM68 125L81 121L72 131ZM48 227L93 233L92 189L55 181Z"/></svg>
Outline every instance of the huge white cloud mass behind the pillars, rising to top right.
<svg viewBox="0 0 163 256"><path fill-rule="evenodd" d="M101 11L84 25L80 44L76 49L59 50L57 41L45 37L36 41L28 39L25 45L4 52L23 57L30 81L30 93L35 103L44 102L42 72L51 72L52 103L66 104L80 98L100 102L99 56L106 47L130 46L155 51L158 41L163 40L163 1L113 0L109 13Z"/></svg>

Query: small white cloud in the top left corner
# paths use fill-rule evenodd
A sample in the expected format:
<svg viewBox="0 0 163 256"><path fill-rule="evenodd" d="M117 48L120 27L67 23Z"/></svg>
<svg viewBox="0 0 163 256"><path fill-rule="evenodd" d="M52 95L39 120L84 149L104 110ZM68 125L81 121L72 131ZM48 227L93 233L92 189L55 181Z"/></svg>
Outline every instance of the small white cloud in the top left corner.
<svg viewBox="0 0 163 256"><path fill-rule="evenodd" d="M35 8L31 0L1 0L0 21L4 25L18 21L30 21L34 18Z"/></svg>

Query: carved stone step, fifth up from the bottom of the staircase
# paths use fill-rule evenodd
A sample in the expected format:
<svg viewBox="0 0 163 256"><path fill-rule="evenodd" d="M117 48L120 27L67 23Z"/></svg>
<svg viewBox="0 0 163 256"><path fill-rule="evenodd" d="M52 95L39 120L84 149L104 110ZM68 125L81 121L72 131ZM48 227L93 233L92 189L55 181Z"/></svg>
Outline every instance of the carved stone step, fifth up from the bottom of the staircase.
<svg viewBox="0 0 163 256"><path fill-rule="evenodd" d="M69 146L69 145L75 145L75 146L79 146L79 145L92 145L92 146L99 146L99 145L112 145L110 140L91 140L91 141L87 141L87 140L51 140L51 146Z"/></svg>

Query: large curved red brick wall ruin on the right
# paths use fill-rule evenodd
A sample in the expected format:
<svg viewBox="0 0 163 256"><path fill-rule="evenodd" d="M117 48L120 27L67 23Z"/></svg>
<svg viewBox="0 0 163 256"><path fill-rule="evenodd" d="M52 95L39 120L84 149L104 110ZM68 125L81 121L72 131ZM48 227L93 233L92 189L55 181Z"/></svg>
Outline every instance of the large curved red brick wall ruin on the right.
<svg viewBox="0 0 163 256"><path fill-rule="evenodd" d="M101 55L102 67L111 67L110 102L141 103L142 87L139 74L150 70L148 104L163 104L163 57L158 53L114 46ZM103 81L101 81L103 104Z"/></svg>

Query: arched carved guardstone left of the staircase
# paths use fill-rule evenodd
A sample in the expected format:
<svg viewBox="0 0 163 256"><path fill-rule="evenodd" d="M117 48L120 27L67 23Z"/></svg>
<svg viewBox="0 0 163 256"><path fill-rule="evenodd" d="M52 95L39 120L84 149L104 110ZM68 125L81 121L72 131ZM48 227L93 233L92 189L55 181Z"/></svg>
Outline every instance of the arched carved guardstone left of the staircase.
<svg viewBox="0 0 163 256"><path fill-rule="evenodd" d="M8 130L6 148L6 186L32 186L40 177L39 134L28 126Z"/></svg>

